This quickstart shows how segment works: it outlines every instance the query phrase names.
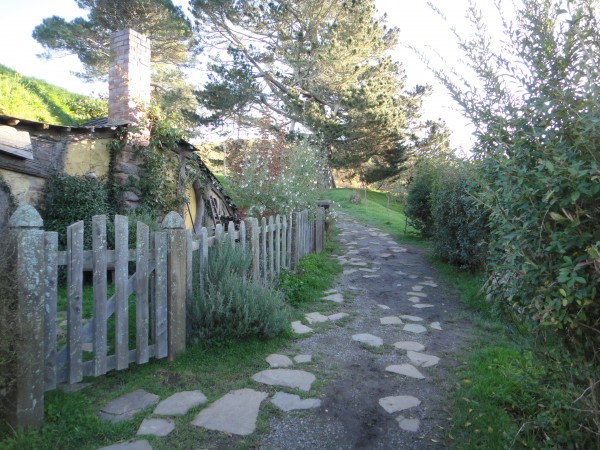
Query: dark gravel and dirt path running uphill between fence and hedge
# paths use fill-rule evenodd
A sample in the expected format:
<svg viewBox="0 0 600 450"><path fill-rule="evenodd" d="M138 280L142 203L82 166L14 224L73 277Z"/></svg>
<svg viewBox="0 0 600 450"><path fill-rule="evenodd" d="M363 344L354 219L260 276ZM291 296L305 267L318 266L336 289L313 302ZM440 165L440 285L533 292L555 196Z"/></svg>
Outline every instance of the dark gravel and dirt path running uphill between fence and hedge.
<svg viewBox="0 0 600 450"><path fill-rule="evenodd" d="M471 332L463 308L451 290L435 278L423 250L398 245L385 233L345 215L340 215L338 222L344 247L340 262L345 270L337 290L346 301L336 312L349 313L350 317L310 325L315 332L296 341L292 349L292 353L313 356L306 370L322 383L321 407L273 415L269 431L259 439L259 448L445 448L446 399L451 375L460 363L455 351ZM384 322L400 318L402 324L382 324L385 317L396 319ZM414 332L408 331L411 329ZM380 337L383 345L372 347L353 340L354 335L363 333ZM415 356L394 346L403 341L416 344L398 346L422 344L425 348ZM439 363L423 363L419 354L438 357ZM418 372L408 364L423 378L413 378ZM390 366L402 373L409 370L411 376L386 371ZM402 406L394 407L394 399L388 398L398 396L417 399L401 398L408 401L404 406L420 403L400 411Z"/></svg>

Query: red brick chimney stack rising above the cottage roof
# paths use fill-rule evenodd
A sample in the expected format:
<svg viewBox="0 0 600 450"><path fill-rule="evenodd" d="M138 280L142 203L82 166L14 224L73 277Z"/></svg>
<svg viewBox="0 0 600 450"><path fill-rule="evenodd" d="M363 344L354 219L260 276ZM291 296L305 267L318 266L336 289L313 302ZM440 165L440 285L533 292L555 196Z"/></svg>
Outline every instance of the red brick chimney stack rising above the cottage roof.
<svg viewBox="0 0 600 450"><path fill-rule="evenodd" d="M137 123L150 104L150 39L132 29L116 31L110 49L108 119Z"/></svg>

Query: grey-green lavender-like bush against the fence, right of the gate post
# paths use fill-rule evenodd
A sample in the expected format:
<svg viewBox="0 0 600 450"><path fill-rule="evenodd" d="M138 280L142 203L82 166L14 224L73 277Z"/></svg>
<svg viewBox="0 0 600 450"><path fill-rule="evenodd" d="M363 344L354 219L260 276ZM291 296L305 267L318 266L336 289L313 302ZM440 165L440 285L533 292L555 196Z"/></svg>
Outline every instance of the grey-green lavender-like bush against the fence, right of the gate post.
<svg viewBox="0 0 600 450"><path fill-rule="evenodd" d="M287 328L283 295L248 278L251 261L249 253L226 240L211 248L206 285L196 289L188 311L190 341L269 339Z"/></svg>

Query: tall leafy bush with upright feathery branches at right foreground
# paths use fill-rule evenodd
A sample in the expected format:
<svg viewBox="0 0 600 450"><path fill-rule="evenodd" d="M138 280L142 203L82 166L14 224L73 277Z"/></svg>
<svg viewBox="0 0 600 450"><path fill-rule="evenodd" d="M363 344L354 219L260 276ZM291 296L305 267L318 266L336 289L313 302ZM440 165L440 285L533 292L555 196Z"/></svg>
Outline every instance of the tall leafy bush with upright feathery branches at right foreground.
<svg viewBox="0 0 600 450"><path fill-rule="evenodd" d="M488 293L598 363L598 3L523 0L499 42L474 4L469 18L474 33L457 37L479 83L436 74L476 127L477 195L492 233Z"/></svg>

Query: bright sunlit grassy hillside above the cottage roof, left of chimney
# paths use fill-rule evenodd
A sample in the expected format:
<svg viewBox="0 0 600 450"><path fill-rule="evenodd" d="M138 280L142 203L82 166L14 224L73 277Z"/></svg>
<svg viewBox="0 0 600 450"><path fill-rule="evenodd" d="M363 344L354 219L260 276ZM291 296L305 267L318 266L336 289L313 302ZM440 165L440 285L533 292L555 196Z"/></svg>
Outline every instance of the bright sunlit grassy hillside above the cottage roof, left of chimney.
<svg viewBox="0 0 600 450"><path fill-rule="evenodd" d="M80 125L107 115L107 102L74 94L0 65L0 114L55 125Z"/></svg>

